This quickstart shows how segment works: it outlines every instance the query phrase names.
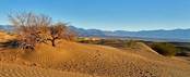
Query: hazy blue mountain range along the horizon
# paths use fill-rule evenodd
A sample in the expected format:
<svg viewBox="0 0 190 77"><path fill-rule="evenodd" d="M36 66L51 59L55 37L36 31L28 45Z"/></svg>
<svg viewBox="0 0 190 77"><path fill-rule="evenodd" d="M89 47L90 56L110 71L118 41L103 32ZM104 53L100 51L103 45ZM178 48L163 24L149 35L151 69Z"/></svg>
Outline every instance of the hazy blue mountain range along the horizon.
<svg viewBox="0 0 190 77"><path fill-rule="evenodd" d="M0 29L12 30L10 25L0 25ZM140 31L127 31L127 30L100 30L100 29L84 29L74 26L69 26L71 30L78 33L81 37L104 37L104 38L131 38L142 40L166 40L166 41L190 41L190 28L189 29L173 29L173 30L140 30Z"/></svg>

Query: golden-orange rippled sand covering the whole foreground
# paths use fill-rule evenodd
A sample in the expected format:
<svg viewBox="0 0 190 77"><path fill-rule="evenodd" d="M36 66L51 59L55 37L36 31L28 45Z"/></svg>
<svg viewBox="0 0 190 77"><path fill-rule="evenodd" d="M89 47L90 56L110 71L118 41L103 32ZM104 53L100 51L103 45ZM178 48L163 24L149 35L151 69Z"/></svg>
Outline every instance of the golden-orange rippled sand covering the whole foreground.
<svg viewBox="0 0 190 77"><path fill-rule="evenodd" d="M190 77L190 64L139 42L135 49L61 41L0 51L0 77Z"/></svg>

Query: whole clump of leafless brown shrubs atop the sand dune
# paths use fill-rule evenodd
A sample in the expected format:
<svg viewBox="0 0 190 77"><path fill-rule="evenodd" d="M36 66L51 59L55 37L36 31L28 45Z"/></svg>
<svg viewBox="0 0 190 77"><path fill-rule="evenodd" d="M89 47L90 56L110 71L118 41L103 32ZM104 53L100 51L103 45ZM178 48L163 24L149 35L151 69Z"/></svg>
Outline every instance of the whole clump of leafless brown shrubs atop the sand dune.
<svg viewBox="0 0 190 77"><path fill-rule="evenodd" d="M21 48L32 48L36 43L50 41L56 47L56 40L72 40L75 35L67 27L67 24L54 24L51 17L35 13L19 13L9 15L10 22L15 26L14 31ZM27 47L25 47L27 46Z"/></svg>

